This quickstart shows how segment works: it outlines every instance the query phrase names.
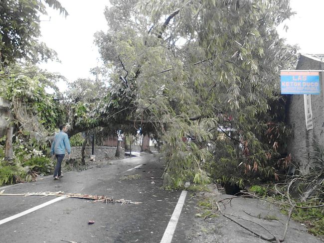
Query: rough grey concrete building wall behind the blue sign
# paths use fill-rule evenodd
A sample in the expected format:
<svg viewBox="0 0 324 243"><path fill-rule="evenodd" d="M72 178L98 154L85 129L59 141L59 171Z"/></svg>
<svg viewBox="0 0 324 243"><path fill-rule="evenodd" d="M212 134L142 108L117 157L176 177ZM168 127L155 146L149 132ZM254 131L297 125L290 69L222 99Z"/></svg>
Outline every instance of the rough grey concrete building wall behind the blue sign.
<svg viewBox="0 0 324 243"><path fill-rule="evenodd" d="M323 70L323 68L322 62L301 55L296 70ZM311 96L314 129L308 131L306 129L304 95L289 95L287 103L288 124L292 127L288 153L291 153L292 159L298 162L302 169L308 168L307 156L313 150L314 139L324 145L323 79L320 72L321 95Z"/></svg>

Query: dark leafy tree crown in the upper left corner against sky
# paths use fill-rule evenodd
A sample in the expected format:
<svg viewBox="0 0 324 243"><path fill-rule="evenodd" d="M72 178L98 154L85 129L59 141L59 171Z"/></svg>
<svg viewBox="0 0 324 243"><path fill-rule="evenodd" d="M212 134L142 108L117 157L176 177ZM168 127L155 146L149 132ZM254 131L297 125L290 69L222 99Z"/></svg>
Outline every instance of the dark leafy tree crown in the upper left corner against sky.
<svg viewBox="0 0 324 243"><path fill-rule="evenodd" d="M44 43L38 43L41 14L45 5L59 9L67 16L67 11L57 0L1 0L0 1L0 57L1 64L7 66L19 59L47 60L56 55Z"/></svg>

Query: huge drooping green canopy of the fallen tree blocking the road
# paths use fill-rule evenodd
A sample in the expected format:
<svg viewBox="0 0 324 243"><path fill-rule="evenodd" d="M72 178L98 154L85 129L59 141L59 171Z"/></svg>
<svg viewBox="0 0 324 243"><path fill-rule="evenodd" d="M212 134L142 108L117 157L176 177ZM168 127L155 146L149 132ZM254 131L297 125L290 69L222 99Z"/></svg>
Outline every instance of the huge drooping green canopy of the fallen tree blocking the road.
<svg viewBox="0 0 324 243"><path fill-rule="evenodd" d="M105 15L110 29L96 43L111 93L101 117L118 109L151 124L166 184L278 176L289 135L279 71L297 58L276 30L289 0L113 0Z"/></svg>

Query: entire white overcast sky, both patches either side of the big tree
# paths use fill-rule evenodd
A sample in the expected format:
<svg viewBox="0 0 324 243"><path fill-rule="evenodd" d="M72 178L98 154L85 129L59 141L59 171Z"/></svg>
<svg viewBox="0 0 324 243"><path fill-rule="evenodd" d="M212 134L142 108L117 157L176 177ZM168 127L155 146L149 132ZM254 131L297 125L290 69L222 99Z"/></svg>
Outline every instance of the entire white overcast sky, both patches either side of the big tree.
<svg viewBox="0 0 324 243"><path fill-rule="evenodd" d="M41 18L41 40L56 50L62 63L42 65L51 72L59 72L69 81L92 77L89 70L99 63L97 47L93 44L94 33L108 29L104 17L109 0L59 0L69 12L67 18L59 11L48 9L48 16ZM278 27L282 37L290 44L299 44L301 53L324 53L322 40L322 11L324 0L291 0L297 14ZM50 17L50 21L49 20ZM46 21L47 20L47 21ZM60 84L64 90L64 84Z"/></svg>

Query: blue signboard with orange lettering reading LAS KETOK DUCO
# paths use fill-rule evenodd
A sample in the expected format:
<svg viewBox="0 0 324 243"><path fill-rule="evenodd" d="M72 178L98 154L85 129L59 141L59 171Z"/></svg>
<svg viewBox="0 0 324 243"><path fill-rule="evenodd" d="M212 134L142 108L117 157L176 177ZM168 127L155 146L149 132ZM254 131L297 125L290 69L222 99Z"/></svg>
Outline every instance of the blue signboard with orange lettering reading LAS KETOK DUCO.
<svg viewBox="0 0 324 243"><path fill-rule="evenodd" d="M280 72L281 94L283 95L320 95L319 72Z"/></svg>

